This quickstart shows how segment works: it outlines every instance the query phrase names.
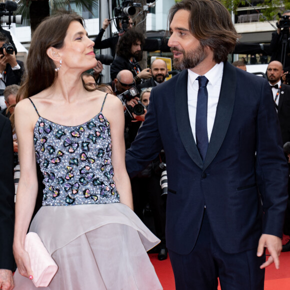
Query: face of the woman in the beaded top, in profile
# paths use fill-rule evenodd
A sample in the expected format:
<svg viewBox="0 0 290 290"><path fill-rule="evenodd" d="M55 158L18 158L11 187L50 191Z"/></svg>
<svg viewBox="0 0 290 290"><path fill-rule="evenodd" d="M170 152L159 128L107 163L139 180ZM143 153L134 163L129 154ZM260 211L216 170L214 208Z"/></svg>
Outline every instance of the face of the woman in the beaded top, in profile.
<svg viewBox="0 0 290 290"><path fill-rule="evenodd" d="M59 49L61 70L67 68L80 68L81 71L96 65L93 52L94 42L87 37L87 33L78 21L72 21L66 31L64 45Z"/></svg>

